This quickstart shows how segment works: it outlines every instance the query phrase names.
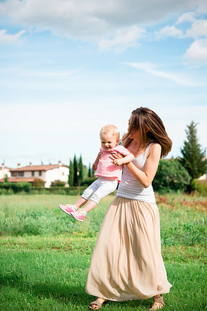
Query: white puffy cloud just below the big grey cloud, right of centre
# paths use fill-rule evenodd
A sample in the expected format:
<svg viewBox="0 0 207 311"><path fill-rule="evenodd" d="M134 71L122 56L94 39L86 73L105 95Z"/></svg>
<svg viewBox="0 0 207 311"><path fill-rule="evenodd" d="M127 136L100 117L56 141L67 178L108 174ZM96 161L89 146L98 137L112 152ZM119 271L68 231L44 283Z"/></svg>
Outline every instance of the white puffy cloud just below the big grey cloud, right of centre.
<svg viewBox="0 0 207 311"><path fill-rule="evenodd" d="M120 53L130 46L137 46L137 40L144 36L146 30L137 26L124 28L115 32L114 39L102 39L99 43L101 50L115 48L115 52Z"/></svg>

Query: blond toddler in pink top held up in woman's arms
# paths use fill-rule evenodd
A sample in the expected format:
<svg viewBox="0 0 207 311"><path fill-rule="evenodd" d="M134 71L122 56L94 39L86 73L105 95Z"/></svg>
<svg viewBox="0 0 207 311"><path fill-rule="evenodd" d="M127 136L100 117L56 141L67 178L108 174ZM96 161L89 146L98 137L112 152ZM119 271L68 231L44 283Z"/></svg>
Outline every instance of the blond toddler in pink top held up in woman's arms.
<svg viewBox="0 0 207 311"><path fill-rule="evenodd" d="M73 218L83 221L88 211L99 203L101 198L108 196L117 189L121 181L122 164L131 162L135 157L124 146L119 145L119 130L114 125L106 125L100 131L101 149L92 169L98 177L95 182L83 191L74 205L59 205L59 208ZM120 153L123 158L114 159L112 153ZM81 209L83 205L86 206Z"/></svg>

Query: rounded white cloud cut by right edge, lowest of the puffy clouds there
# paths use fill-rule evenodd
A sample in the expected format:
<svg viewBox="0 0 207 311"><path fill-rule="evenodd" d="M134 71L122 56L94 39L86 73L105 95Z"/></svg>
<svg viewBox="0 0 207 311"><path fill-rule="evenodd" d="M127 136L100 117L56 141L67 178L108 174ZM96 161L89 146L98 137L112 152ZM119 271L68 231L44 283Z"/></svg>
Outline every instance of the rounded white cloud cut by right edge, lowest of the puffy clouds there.
<svg viewBox="0 0 207 311"><path fill-rule="evenodd" d="M185 57L197 63L207 61L207 38L197 39L186 50Z"/></svg>

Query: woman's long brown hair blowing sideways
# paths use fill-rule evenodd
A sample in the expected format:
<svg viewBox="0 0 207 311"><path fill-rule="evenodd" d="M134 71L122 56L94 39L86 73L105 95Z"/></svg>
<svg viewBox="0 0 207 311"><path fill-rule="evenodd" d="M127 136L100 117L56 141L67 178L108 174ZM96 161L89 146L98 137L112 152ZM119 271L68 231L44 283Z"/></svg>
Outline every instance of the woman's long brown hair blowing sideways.
<svg viewBox="0 0 207 311"><path fill-rule="evenodd" d="M166 129L160 117L152 110L140 107L132 111L128 133L124 135L124 147L128 147L135 132L140 133L139 147L145 146L148 140L161 145L161 158L167 156L172 148L172 141L168 138Z"/></svg>

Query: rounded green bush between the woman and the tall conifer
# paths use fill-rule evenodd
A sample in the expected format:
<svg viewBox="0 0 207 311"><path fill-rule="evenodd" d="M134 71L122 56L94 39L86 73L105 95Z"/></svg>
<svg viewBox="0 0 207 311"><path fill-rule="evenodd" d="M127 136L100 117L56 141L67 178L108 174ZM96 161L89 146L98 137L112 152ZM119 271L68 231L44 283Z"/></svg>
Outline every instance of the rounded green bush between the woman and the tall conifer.
<svg viewBox="0 0 207 311"><path fill-rule="evenodd" d="M188 171L179 160L160 160L157 173L152 182L155 191L185 191L190 184Z"/></svg>

